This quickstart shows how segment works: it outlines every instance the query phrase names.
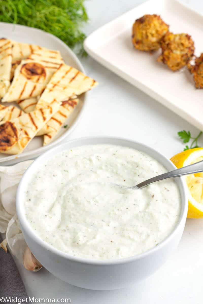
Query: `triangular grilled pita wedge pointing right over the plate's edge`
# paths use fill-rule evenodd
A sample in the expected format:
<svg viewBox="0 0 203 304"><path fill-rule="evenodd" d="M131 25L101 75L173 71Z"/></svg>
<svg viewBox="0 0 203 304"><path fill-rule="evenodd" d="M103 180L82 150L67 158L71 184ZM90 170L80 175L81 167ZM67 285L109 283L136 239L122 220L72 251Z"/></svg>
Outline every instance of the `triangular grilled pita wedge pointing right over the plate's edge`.
<svg viewBox="0 0 203 304"><path fill-rule="evenodd" d="M80 95L98 85L94 79L89 78L74 67L61 64L49 81L41 95L36 108L49 104L52 100L66 100L74 95Z"/></svg>

